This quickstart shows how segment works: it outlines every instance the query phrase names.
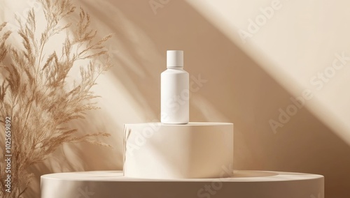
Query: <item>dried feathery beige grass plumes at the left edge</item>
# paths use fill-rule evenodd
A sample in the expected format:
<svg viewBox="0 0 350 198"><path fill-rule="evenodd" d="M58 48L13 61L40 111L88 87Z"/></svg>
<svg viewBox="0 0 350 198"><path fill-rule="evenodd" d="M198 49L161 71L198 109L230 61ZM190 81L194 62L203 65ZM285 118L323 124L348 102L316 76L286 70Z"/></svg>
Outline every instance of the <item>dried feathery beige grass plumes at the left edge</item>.
<svg viewBox="0 0 350 198"><path fill-rule="evenodd" d="M104 50L104 43L111 35L97 39L97 31L90 29L90 15L80 8L79 20L70 23L69 18L76 7L70 0L38 0L45 16L45 29L38 33L36 15L29 11L27 21L21 22L18 36L22 47L6 44L10 31L0 25L0 70L3 82L0 86L0 131L1 136L10 134L11 192L6 192L6 153L1 156L0 197L22 197L29 188L32 174L28 167L45 158L63 143L89 142L109 146L93 137L109 136L97 132L77 136L76 128L64 124L84 118L87 110L97 109L91 102L96 98L90 90L97 77L111 64ZM73 24L73 25L72 25ZM48 53L48 42L57 34L65 33L62 50ZM40 36L37 36L40 35ZM55 40L57 43L57 40ZM96 60L104 56L104 63ZM3 60L12 60L8 66ZM73 66L81 64L80 80L74 80L69 89L67 79ZM85 65L84 65L85 64ZM7 117L7 118L6 118ZM3 132L6 130L6 133ZM8 137L8 136L5 136ZM1 151L6 148L5 138L0 138Z"/></svg>

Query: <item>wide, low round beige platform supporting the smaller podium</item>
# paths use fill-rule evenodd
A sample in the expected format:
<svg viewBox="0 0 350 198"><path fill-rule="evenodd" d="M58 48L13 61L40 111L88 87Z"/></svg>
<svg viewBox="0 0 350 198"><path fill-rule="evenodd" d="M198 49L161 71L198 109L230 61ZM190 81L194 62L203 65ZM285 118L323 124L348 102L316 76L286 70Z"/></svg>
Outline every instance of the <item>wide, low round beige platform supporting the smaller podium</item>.
<svg viewBox="0 0 350 198"><path fill-rule="evenodd" d="M146 179L123 172L70 172L41 176L41 198L324 198L316 174L235 171L230 178Z"/></svg>

